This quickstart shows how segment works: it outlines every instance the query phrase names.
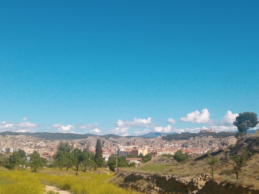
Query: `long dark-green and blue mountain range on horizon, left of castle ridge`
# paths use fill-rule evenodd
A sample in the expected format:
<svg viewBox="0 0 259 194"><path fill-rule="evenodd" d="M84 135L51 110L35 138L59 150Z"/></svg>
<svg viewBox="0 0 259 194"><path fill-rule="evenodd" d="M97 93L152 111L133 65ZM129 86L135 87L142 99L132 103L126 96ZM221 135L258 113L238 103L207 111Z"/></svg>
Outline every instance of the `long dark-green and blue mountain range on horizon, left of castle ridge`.
<svg viewBox="0 0 259 194"><path fill-rule="evenodd" d="M143 138L156 138L161 135L166 136L166 135L171 135L171 134L178 134L178 133L162 133L162 132L153 132L153 133L147 133L145 135L140 135L140 136L126 136L125 138L132 138L132 137L143 137ZM36 132L36 133L29 133L29 132L11 132L11 131L5 131L5 132L0 132L0 135L26 135L26 136L34 136L38 137L40 139L46 139L46 140L73 140L73 139L86 139L88 137L96 137L96 135L87 133L87 134L74 134L74 133L49 133L49 132ZM113 135L113 134L107 134L107 135L102 135L99 137L103 137L106 139L109 138L121 138L121 136L118 135Z"/></svg>

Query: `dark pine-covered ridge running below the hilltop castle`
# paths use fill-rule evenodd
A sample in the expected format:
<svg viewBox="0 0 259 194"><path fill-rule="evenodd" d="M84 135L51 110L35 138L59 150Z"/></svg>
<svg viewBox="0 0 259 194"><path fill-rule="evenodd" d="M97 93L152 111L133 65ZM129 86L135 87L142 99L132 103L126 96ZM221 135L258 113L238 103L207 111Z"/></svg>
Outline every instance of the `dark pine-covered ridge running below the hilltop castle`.
<svg viewBox="0 0 259 194"><path fill-rule="evenodd" d="M224 138L229 136L235 136L235 132L226 132L222 131L219 133L212 133L212 132L199 132L199 133L181 133L181 134L172 134L167 136L162 136L163 140L171 141L171 140L185 140L191 137L203 137L203 136L212 136L214 138Z"/></svg>

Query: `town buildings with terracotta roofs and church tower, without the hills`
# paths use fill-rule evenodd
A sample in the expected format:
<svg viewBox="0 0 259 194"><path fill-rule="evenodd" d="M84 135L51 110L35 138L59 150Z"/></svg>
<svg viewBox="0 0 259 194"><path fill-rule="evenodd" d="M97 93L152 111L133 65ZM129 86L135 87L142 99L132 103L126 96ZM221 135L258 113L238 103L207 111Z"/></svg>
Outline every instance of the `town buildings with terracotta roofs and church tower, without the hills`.
<svg viewBox="0 0 259 194"><path fill-rule="evenodd" d="M89 151L95 153L95 146L88 146L84 147L81 144L73 144L75 148L81 149L82 151ZM26 154L31 154L34 151L37 151L42 158L52 158L52 156L57 153L59 148L57 146L46 145L44 142L37 143L32 146L24 146L24 147L9 147L9 148L0 148L0 153L12 153L19 150L24 150ZM161 156L163 154L171 154L174 155L175 152L178 150L182 150L184 153L188 154L202 154L206 153L207 151L211 150L211 148L188 148L178 146L178 144L163 144L157 145L156 147L152 144L152 146L138 146L136 140L134 140L134 145L125 146L125 145L113 145L113 146L106 146L103 147L103 158L104 160L108 160L109 156L112 154L118 156L130 156L136 155L139 156L142 154L143 156L147 154L151 154L154 156ZM217 151L219 147L213 147L212 150Z"/></svg>

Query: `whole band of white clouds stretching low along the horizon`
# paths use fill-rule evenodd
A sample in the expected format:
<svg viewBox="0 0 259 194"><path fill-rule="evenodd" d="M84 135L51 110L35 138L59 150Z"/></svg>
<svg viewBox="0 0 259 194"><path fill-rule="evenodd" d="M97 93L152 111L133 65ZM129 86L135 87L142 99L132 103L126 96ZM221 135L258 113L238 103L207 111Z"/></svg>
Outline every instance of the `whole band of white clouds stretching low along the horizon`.
<svg viewBox="0 0 259 194"><path fill-rule="evenodd" d="M200 127L186 127L186 128L177 128L176 126L172 127L171 125L175 125L177 122L173 118L168 118L167 122L164 123L165 126L159 126L159 124L152 122L152 118L148 117L147 119L142 118L134 118L133 121L126 120L118 120L114 126L114 129L104 130L104 127L100 127L98 123L94 124L79 124L76 123L76 127L72 124L53 124L51 128L46 128L45 131L48 132L59 132L59 133L92 133L92 134L100 134L104 135L107 133L112 133L114 135L119 136L128 136L128 135L143 135L149 132L191 132L196 133L199 132L200 129L211 129L217 131L236 131L237 128L233 125L233 121L239 114L232 113L231 111L227 111L225 116L222 117L221 121L210 119L210 113L207 108L202 109L201 112L195 110L191 113L188 113L186 116L181 117L179 119L182 123L190 123L192 124L202 124ZM28 122L27 118L23 118L23 122L12 123L10 121L3 121L0 123L0 132L4 131L12 131L12 132L38 132L39 128L44 127L45 125L38 125L37 123ZM257 129L259 127L256 126ZM145 128L145 129L141 129ZM105 131L105 132L104 132ZM42 130L41 130L42 132Z"/></svg>

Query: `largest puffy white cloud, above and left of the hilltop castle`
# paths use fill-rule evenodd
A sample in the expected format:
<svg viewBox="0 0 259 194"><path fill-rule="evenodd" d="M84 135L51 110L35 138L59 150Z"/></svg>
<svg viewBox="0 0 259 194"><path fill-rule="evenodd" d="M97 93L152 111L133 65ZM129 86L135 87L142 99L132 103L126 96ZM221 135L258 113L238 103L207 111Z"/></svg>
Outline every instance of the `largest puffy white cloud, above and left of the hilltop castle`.
<svg viewBox="0 0 259 194"><path fill-rule="evenodd" d="M180 121L189 123L208 124L210 122L210 113L206 108L202 109L201 114L198 110L195 110L192 113L188 113L186 117L182 117Z"/></svg>

